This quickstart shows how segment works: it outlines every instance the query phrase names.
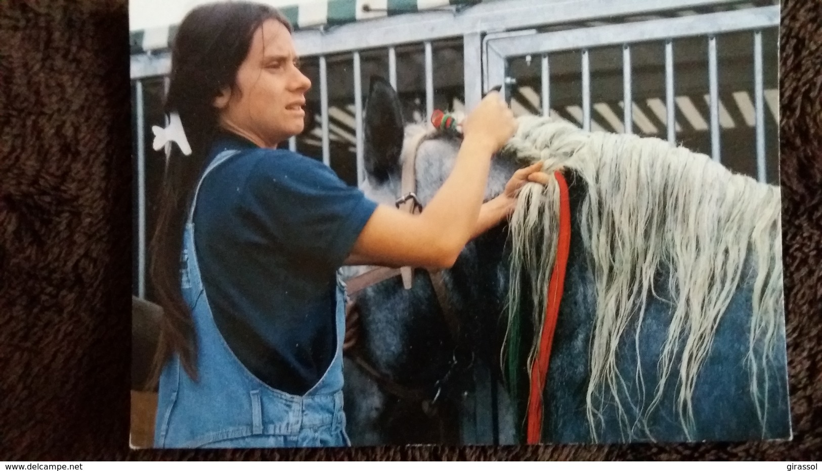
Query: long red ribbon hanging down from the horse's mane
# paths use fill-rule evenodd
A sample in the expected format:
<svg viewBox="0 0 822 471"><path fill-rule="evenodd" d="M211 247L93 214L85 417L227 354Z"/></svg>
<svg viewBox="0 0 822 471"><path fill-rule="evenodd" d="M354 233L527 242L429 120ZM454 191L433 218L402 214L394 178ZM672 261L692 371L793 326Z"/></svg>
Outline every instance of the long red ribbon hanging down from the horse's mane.
<svg viewBox="0 0 822 471"><path fill-rule="evenodd" d="M531 391L528 400L527 443L539 443L543 432L543 391L551 360L551 345L556 329L556 318L560 312L562 290L565 286L568 251L570 248L570 202L568 184L559 171L554 172L560 187L560 232L556 242L556 262L548 283L545 322L540 334L538 358L531 367Z"/></svg>

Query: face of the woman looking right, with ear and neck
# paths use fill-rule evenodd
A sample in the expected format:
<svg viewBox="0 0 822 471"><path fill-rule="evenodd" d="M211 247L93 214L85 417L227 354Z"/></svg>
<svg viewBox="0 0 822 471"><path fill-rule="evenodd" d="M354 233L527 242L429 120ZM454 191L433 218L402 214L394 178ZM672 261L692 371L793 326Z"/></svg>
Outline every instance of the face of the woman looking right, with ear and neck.
<svg viewBox="0 0 822 471"><path fill-rule="evenodd" d="M236 89L215 98L220 124L261 147L276 147L302 132L311 80L298 69L291 34L276 20L254 33L237 71Z"/></svg>

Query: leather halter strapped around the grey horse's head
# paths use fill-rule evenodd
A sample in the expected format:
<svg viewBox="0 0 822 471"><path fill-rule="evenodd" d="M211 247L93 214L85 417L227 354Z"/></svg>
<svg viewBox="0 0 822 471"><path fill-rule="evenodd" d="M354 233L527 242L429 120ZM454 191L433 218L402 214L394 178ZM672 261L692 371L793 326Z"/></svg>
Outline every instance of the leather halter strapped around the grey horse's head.
<svg viewBox="0 0 822 471"><path fill-rule="evenodd" d="M406 211L410 214L418 214L423 211L423 204L419 201L417 194L416 194L416 171L415 171L415 164L417 158L417 151L419 146L423 144L426 139L429 139L432 136L432 132L426 132L422 135L418 136L418 138L413 139L409 144L403 146L403 167L402 167L402 177L401 177L401 188L400 188L400 196L395 200L396 208ZM382 281L389 280L390 278L400 276L402 277L404 289L410 290L413 287L413 270L414 267L401 267L401 268L390 268L390 267L375 267L367 272L364 272L357 277L350 278L346 281L346 286L348 287L348 294L349 294L349 301L346 303L345 306L345 318L346 318L346 332L345 332L345 339L343 345L343 350L345 353L353 359L353 361L358 364L363 370L368 373L372 379L374 379L377 384L379 384L384 390L390 392L392 395L397 396L399 398L405 400L411 400L413 402L420 402L423 405L423 410L426 414L433 414L435 405L437 400L441 397L441 392L443 387L446 385L446 382L454 376L455 370L459 366L459 361L457 359L458 354L458 345L459 345L459 338L460 338L460 327L459 327L459 319L456 317L456 313L452 308L451 304L448 302L448 296L446 293L446 285L442 278L442 270L437 269L430 269L425 268L426 272L428 273L428 277L431 281L433 286L434 292L436 293L436 299L440 305L441 313L445 318L446 325L448 326L448 330L450 332L451 340L454 341L455 349L452 354L452 358L450 359L449 368L446 371L445 375L441 377L436 383L434 384L433 393L429 391L427 387L417 387L417 388L409 388L405 386L399 385L399 383L392 381L390 378L383 376L379 373L376 368L374 368L371 364L367 362L366 359L363 358L362 354L358 352L358 350L354 349L355 345L358 341L358 326L357 322L359 319L359 315L357 312L357 300L356 295L359 291L366 289L369 286L376 285L381 283ZM473 358L470 359L469 364L473 363Z"/></svg>

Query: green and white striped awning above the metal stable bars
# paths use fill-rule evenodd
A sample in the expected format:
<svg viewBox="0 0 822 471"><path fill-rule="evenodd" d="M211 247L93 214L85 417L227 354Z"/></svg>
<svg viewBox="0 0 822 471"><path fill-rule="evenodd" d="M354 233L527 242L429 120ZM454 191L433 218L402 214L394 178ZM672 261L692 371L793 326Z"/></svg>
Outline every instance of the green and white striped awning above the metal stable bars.
<svg viewBox="0 0 822 471"><path fill-rule="evenodd" d="M483 0L308 0L278 9L289 19L294 30L307 30L443 7L459 9L479 2ZM131 31L131 53L168 49L177 28L177 25L167 25Z"/></svg>

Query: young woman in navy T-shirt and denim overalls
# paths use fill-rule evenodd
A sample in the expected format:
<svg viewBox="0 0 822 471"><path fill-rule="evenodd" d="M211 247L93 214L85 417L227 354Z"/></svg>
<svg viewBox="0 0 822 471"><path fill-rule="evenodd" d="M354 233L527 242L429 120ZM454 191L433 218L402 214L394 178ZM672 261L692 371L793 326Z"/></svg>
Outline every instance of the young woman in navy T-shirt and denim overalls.
<svg viewBox="0 0 822 471"><path fill-rule="evenodd" d="M339 268L448 268L521 185L547 178L521 170L483 204L492 153L515 130L496 93L464 122L455 167L419 215L277 149L302 132L311 87L291 31L271 7L224 2L189 12L174 40L151 263L164 308L158 447L349 445Z"/></svg>

